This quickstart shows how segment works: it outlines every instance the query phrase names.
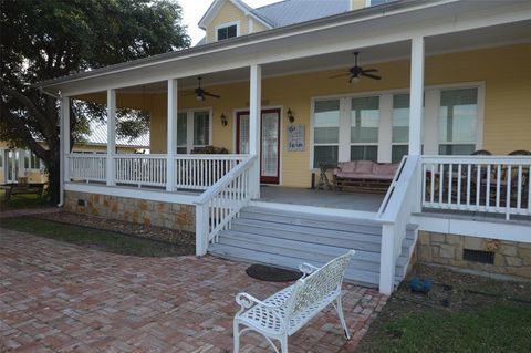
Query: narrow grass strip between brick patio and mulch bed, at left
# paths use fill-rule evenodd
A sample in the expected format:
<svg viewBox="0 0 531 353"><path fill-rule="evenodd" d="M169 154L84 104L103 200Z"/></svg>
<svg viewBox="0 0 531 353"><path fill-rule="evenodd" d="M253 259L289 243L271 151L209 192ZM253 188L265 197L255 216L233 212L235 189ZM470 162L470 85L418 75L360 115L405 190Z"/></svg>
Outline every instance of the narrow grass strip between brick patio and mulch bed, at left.
<svg viewBox="0 0 531 353"><path fill-rule="evenodd" d="M95 248L113 253L139 257L167 257L184 255L177 245L140 239L117 232L60 224L34 217L13 217L0 220L2 228Z"/></svg>

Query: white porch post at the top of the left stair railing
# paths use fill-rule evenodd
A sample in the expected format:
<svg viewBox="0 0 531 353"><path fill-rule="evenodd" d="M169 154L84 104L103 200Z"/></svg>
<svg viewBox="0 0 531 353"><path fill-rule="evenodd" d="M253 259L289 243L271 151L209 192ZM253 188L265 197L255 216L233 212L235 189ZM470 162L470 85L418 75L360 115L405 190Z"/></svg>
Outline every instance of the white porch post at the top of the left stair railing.
<svg viewBox="0 0 531 353"><path fill-rule="evenodd" d="M262 101L262 66L251 65L249 87L249 153L257 156L252 186L254 190L253 198L260 198L260 115Z"/></svg>

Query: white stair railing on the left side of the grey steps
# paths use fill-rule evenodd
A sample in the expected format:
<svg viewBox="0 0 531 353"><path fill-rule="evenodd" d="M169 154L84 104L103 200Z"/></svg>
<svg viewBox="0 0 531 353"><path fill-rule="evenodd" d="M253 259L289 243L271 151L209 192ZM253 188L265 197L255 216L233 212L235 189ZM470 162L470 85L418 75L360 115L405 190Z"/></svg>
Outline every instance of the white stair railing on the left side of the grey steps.
<svg viewBox="0 0 531 353"><path fill-rule="evenodd" d="M218 241L219 232L230 227L231 220L256 195L259 187L253 181L256 160L256 156L248 156L195 201L197 256L205 255L208 245Z"/></svg>

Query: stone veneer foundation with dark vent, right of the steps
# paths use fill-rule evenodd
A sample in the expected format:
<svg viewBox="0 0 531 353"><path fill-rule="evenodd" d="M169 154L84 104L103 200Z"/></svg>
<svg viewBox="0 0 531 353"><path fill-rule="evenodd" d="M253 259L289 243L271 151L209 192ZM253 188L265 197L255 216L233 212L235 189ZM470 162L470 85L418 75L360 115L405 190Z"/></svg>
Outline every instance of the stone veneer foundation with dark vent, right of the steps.
<svg viewBox="0 0 531 353"><path fill-rule="evenodd" d="M464 260L464 249L494 253L494 263ZM531 243L419 231L416 260L451 266L485 274L531 279Z"/></svg>

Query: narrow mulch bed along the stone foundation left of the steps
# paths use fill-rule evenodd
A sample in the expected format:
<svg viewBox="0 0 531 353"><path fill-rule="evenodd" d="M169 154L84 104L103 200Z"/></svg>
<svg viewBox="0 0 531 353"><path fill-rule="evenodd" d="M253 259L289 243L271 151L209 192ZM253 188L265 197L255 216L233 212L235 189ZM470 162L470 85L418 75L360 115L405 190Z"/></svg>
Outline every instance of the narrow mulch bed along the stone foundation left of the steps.
<svg viewBox="0 0 531 353"><path fill-rule="evenodd" d="M35 215L34 217L81 227L103 229L156 241L169 242L173 245L188 248L189 251L187 252L189 253L195 253L196 251L196 236L192 232L188 231L174 230L155 226L146 227L139 224L95 216L72 214L66 211L55 214L41 214Z"/></svg>

